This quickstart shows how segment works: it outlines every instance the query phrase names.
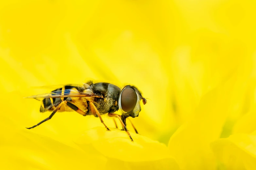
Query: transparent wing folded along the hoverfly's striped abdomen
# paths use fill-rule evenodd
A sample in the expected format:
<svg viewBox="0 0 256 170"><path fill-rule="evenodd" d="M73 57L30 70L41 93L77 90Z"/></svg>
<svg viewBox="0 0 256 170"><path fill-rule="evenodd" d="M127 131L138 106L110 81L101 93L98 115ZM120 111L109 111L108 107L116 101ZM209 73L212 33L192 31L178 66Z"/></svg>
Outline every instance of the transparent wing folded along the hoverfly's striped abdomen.
<svg viewBox="0 0 256 170"><path fill-rule="evenodd" d="M60 91L54 91L50 93L44 93L44 94L38 94L34 96L29 96L26 98L60 98L60 97L97 97L97 98L102 98L101 95L95 94L95 93L87 93L87 92L78 92L77 90L72 90L72 89L66 89L62 92Z"/></svg>

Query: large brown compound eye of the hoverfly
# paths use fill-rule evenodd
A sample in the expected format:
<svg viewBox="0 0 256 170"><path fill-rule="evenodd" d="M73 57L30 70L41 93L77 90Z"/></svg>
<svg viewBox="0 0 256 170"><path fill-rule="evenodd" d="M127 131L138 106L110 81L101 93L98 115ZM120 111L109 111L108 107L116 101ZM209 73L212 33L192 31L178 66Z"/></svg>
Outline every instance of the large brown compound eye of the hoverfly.
<svg viewBox="0 0 256 170"><path fill-rule="evenodd" d="M125 112L130 112L134 109L137 103L137 94L131 87L127 87L121 94L121 107Z"/></svg>

